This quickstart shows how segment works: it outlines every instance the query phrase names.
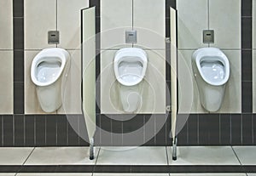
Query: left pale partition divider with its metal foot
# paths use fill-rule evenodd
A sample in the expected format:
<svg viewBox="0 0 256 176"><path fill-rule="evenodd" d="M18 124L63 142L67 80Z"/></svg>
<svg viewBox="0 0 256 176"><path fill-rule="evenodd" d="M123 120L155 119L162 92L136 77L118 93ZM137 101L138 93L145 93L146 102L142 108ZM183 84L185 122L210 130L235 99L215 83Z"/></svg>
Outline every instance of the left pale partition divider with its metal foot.
<svg viewBox="0 0 256 176"><path fill-rule="evenodd" d="M90 159L94 158L96 132L96 8L82 10L83 114L90 139Z"/></svg>

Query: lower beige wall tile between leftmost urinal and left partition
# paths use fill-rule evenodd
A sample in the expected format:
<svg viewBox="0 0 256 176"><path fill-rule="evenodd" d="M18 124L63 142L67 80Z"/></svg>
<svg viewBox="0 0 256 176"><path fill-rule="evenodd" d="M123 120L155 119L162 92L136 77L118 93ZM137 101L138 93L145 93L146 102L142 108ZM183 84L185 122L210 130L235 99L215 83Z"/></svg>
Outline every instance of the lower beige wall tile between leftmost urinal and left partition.
<svg viewBox="0 0 256 176"><path fill-rule="evenodd" d="M81 50L67 50L71 56L67 80L62 82L62 105L58 114L80 114L81 111Z"/></svg>

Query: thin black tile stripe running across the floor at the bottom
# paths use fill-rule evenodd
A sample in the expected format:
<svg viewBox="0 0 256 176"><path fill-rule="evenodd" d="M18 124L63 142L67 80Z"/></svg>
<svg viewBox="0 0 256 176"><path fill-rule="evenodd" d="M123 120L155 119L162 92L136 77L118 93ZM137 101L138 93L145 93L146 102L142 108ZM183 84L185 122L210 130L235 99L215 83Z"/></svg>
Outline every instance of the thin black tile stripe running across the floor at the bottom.
<svg viewBox="0 0 256 176"><path fill-rule="evenodd" d="M31 165L0 166L0 173L256 173L252 165Z"/></svg>

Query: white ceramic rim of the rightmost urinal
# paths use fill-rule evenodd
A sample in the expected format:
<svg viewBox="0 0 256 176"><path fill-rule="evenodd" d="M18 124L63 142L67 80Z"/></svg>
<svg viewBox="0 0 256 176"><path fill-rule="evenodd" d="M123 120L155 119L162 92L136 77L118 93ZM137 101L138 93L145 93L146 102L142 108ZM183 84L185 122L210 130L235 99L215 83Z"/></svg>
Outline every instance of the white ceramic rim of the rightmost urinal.
<svg viewBox="0 0 256 176"><path fill-rule="evenodd" d="M201 60L205 57L217 57L218 60L224 65L225 77L220 82L212 82L201 71ZM199 71L202 79L212 86L222 86L228 82L230 78L230 61L227 56L219 48L199 48L192 54L193 64L196 65L196 69Z"/></svg>

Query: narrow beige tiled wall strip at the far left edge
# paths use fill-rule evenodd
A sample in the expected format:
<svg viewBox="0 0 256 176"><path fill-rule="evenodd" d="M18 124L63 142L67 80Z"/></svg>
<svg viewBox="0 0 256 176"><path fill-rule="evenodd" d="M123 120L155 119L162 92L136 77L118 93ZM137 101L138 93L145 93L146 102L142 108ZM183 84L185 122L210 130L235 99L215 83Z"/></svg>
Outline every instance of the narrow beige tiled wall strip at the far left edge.
<svg viewBox="0 0 256 176"><path fill-rule="evenodd" d="M0 114L13 113L13 3L0 2ZM16 22L16 20L15 20ZM16 81L16 80L15 80Z"/></svg>

